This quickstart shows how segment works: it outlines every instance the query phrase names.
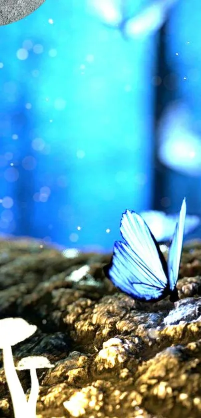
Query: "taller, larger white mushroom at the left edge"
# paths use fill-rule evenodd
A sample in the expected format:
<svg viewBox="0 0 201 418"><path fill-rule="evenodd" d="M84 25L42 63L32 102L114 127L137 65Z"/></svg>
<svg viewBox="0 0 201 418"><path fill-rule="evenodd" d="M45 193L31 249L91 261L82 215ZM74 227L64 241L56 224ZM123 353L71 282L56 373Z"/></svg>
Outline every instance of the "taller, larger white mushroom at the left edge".
<svg viewBox="0 0 201 418"><path fill-rule="evenodd" d="M14 367L11 346L30 337L36 329L35 325L22 318L0 319L0 348L3 350L3 367L15 418L27 418L28 405Z"/></svg>

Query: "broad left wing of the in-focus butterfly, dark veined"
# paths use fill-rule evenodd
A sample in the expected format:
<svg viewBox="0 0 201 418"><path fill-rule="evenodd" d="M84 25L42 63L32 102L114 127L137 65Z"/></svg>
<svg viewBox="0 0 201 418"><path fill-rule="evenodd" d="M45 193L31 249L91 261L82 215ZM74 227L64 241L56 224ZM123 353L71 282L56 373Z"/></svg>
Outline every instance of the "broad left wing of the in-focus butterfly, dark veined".
<svg viewBox="0 0 201 418"><path fill-rule="evenodd" d="M106 276L126 293L141 300L159 300L168 294L166 261L145 221L127 210L120 231L126 244L117 241Z"/></svg>

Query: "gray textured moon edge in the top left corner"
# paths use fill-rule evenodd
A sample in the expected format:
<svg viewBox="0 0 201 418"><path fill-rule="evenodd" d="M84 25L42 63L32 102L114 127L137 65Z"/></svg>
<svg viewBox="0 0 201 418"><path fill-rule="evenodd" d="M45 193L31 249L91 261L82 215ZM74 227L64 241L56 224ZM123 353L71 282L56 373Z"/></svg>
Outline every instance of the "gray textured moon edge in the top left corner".
<svg viewBox="0 0 201 418"><path fill-rule="evenodd" d="M0 26L28 16L45 0L0 0Z"/></svg>

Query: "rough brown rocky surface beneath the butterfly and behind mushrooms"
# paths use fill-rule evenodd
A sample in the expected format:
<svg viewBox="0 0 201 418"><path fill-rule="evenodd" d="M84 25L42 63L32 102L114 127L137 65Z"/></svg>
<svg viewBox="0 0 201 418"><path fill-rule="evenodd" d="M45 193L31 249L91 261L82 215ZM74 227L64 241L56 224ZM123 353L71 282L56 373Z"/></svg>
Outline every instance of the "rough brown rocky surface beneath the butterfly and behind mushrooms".
<svg viewBox="0 0 201 418"><path fill-rule="evenodd" d="M37 418L201 416L201 244L184 249L181 300L141 303L104 277L110 256L0 241L0 319L37 331L13 347L43 355ZM13 417L0 350L0 417ZM18 371L27 396L30 378Z"/></svg>

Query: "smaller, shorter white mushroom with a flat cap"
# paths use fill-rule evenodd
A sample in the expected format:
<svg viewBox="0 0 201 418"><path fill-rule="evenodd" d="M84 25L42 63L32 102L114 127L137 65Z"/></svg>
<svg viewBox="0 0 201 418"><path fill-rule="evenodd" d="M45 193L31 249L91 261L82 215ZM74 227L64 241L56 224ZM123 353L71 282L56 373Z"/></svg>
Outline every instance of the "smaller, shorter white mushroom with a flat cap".
<svg viewBox="0 0 201 418"><path fill-rule="evenodd" d="M30 370L31 390L27 402L29 409L29 417L36 416L36 403L39 393L39 383L36 374L36 369L44 369L46 367L51 368L54 367L54 365L51 364L49 360L44 356L23 357L18 362L18 365L16 367L17 370Z"/></svg>

